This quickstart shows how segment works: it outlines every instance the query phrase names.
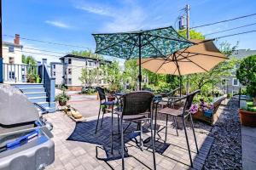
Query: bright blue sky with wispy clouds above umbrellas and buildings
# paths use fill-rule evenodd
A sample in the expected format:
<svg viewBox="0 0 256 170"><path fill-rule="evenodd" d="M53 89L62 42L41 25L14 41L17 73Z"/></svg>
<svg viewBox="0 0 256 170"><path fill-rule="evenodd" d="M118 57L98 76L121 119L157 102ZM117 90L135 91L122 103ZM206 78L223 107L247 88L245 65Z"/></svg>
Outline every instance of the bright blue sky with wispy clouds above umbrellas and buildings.
<svg viewBox="0 0 256 170"><path fill-rule="evenodd" d="M63 42L93 50L96 44L91 33L135 31L162 26L177 28L177 17L183 14L181 9L186 4L191 7L190 26L192 27L256 12L254 0L3 0L3 34L19 33L20 37ZM252 23L256 23L256 16L201 27L197 31L207 34ZM256 30L256 25L210 37L252 30ZM216 43L228 41L235 44L239 41L239 48L256 49L255 37L256 32L253 32L219 39ZM3 40L13 41L13 38L3 37ZM63 53L84 49L25 40L21 40L21 43L28 48L43 48ZM42 53L32 49L25 50ZM45 57L40 54L32 55L37 59ZM50 61L58 59L54 56L47 58Z"/></svg>

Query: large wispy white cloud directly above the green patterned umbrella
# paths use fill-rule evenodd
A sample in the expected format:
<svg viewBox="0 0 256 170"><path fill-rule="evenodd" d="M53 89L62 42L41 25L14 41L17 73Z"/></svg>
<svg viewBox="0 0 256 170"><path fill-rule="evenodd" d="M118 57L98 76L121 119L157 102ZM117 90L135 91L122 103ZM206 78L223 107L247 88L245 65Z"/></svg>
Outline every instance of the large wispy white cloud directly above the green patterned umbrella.
<svg viewBox="0 0 256 170"><path fill-rule="evenodd" d="M91 14L98 14L109 17L109 20L103 23L101 30L99 31L135 31L144 28L153 28L154 23L148 22L150 19L148 13L145 13L143 8L138 6L133 1L125 1L123 7L113 8L96 3L80 3L75 8L82 9ZM160 17L156 16L154 21L160 20Z"/></svg>

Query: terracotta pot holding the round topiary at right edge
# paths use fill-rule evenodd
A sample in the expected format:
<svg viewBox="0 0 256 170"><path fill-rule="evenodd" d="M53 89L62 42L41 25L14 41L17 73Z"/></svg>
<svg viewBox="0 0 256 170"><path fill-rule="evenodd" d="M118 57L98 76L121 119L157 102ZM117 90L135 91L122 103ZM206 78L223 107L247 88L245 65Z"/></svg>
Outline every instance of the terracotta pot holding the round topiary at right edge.
<svg viewBox="0 0 256 170"><path fill-rule="evenodd" d="M239 109L241 125L246 127L256 127L256 112Z"/></svg>

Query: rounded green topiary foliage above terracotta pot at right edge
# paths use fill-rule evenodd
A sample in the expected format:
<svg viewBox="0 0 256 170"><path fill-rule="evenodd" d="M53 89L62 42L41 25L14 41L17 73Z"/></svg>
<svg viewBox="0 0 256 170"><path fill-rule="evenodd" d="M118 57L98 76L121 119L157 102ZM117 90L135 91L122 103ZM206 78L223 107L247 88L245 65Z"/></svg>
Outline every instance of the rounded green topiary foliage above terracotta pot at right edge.
<svg viewBox="0 0 256 170"><path fill-rule="evenodd" d="M256 55L248 56L241 61L236 77L247 87L247 94L256 97Z"/></svg>

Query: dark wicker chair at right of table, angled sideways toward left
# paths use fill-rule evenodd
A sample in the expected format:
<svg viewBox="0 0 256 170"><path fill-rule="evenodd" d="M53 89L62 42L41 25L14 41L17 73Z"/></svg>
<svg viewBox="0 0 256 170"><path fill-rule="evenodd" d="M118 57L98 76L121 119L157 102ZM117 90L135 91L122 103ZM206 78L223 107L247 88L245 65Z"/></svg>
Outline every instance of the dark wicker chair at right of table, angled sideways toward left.
<svg viewBox="0 0 256 170"><path fill-rule="evenodd" d="M192 157L191 157L191 153L190 153L190 148L189 148L189 139L188 139L188 134L187 134L187 129L186 129L186 123L185 123L185 119L189 116L190 117L190 122L192 125L192 130L193 130L193 134L194 134L194 139L195 139L195 147L197 150L197 153L199 153L198 150L198 145L197 145L197 141L196 141L196 137L195 137L195 129L194 129L194 123L193 123L193 119L191 116L191 112L189 111L193 99L195 97L195 94L199 93L200 90L196 90L195 92L188 94L187 96L184 96L180 99L176 99L176 100L170 100L168 101L168 107L164 108L164 109L160 109L160 111L157 111L157 106L156 106L156 110L155 110L155 114L157 115L157 113L160 114L165 114L166 115L166 135L167 135L167 122L168 122L168 116L173 116L174 118L174 123L175 123L175 127L176 127L176 132L177 132L177 119L176 117L181 117L183 120L183 127L184 127L184 132L185 132L185 136L186 136L186 141L187 141L187 145L188 145L188 150L189 150L189 159L190 159L190 163L191 163L191 167L193 167L193 161L192 161ZM183 106L183 108L180 108L179 110L177 109L173 109L173 105L177 102L177 101L181 101L185 99L185 104ZM157 102L159 103L159 102ZM155 116L156 116L155 115ZM154 126L156 126L156 123L154 124ZM178 133L177 133L178 135ZM155 132L154 132L154 138L155 138ZM166 139L165 139L166 140Z"/></svg>

